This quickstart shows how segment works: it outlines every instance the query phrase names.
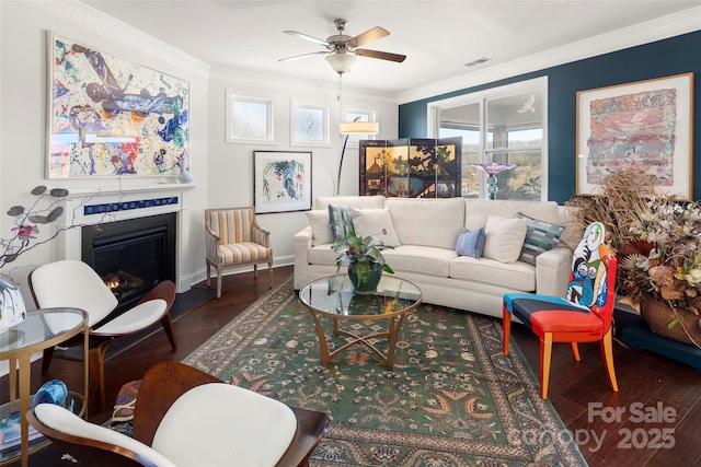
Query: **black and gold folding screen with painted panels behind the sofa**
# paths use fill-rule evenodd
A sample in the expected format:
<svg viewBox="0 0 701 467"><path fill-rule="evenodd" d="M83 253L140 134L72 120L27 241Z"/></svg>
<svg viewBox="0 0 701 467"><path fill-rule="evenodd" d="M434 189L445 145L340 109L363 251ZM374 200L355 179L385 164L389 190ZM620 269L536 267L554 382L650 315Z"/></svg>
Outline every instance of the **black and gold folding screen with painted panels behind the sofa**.
<svg viewBox="0 0 701 467"><path fill-rule="evenodd" d="M462 196L462 138L360 140L360 195Z"/></svg>

